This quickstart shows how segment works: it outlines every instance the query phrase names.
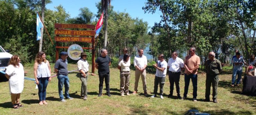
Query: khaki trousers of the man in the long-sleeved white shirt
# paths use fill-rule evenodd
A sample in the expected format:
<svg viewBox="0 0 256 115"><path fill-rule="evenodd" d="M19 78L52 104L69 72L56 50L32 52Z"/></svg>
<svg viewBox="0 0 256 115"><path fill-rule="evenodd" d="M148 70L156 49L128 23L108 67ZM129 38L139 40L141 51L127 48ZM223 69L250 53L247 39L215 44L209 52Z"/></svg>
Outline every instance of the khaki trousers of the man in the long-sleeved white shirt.
<svg viewBox="0 0 256 115"><path fill-rule="evenodd" d="M143 84L143 90L145 92L145 91L147 91L146 70L141 72L138 69L135 70L135 86L134 86L134 91L138 92L138 83L139 83L140 76L141 76L141 80L142 80L142 84Z"/></svg>

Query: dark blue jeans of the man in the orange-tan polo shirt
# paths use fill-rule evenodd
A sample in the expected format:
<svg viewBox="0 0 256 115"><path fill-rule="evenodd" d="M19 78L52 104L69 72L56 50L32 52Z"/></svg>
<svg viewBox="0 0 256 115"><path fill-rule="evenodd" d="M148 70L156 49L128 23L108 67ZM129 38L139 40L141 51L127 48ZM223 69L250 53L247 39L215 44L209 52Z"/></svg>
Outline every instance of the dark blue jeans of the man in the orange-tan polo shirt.
<svg viewBox="0 0 256 115"><path fill-rule="evenodd" d="M185 87L184 87L184 97L187 97L188 94L188 86L189 86L189 82L190 79L192 80L192 84L193 84L193 98L197 97L197 74L185 74Z"/></svg>

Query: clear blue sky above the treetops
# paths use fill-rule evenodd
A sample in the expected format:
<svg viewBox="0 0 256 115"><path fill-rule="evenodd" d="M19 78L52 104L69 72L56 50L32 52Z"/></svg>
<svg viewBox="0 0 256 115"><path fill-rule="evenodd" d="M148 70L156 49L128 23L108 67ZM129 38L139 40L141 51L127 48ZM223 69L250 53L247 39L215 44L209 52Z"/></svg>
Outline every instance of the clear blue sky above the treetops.
<svg viewBox="0 0 256 115"><path fill-rule="evenodd" d="M62 5L70 17L78 16L79 9L87 7L94 14L97 13L95 3L101 0L52 0L51 4L47 4L46 8L50 10L56 10L54 7ZM144 13L142 7L145 6L145 0L112 0L111 5L114 7L114 11L129 13L132 18L138 17L143 21L148 22L148 26L153 27L155 22L160 21L160 11L152 13Z"/></svg>

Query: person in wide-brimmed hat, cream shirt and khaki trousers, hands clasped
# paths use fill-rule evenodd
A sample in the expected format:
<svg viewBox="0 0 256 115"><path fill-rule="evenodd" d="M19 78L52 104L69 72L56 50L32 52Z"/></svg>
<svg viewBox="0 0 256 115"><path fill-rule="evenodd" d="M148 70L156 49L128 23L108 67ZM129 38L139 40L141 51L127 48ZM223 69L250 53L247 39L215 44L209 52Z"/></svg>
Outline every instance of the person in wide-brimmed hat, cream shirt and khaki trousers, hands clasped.
<svg viewBox="0 0 256 115"><path fill-rule="evenodd" d="M77 68L80 72L78 74L78 77L82 81L81 84L81 97L84 98L84 100L87 100L87 80L88 80L88 72L89 72L89 64L86 60L87 55L86 52L81 53L81 59L77 62Z"/></svg>

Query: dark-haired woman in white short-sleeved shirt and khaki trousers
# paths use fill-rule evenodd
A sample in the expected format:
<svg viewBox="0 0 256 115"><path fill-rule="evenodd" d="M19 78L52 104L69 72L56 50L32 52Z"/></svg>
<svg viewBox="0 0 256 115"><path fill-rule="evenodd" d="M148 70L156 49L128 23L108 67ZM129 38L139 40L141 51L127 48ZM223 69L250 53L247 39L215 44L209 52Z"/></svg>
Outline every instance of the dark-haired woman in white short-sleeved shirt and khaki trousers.
<svg viewBox="0 0 256 115"><path fill-rule="evenodd" d="M120 93L121 96L124 97L124 93L126 95L129 94L129 80L130 80L130 55L129 54L124 54L124 59L121 60L118 64L118 69L120 70Z"/></svg>

